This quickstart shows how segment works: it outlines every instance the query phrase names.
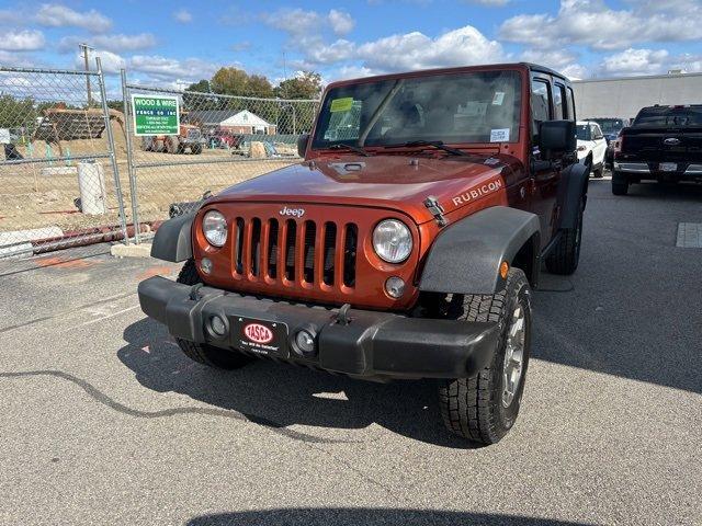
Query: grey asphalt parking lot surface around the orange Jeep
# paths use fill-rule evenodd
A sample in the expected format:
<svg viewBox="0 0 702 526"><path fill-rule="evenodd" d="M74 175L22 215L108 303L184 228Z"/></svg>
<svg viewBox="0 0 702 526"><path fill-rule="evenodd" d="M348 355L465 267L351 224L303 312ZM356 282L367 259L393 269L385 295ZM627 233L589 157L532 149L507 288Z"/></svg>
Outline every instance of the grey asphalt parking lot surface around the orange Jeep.
<svg viewBox="0 0 702 526"><path fill-rule="evenodd" d="M448 435L433 385L190 363L138 308L176 265L104 248L0 264L0 524L702 524L702 186L592 180L545 275L522 413Z"/></svg>

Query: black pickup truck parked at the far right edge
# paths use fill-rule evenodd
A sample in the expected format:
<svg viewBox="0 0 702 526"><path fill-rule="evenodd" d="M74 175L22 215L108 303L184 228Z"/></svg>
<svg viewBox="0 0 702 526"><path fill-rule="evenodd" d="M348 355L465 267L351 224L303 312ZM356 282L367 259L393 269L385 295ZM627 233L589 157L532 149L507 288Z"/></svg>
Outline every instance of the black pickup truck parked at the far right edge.
<svg viewBox="0 0 702 526"><path fill-rule="evenodd" d="M702 104L648 106L614 146L612 193L642 181L702 182Z"/></svg>

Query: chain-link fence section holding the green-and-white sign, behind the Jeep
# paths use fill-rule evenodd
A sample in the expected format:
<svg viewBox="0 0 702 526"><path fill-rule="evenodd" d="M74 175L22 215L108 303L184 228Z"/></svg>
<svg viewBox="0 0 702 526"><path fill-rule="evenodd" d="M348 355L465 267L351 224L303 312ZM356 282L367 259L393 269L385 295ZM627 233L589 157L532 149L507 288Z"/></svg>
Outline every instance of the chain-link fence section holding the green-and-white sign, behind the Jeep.
<svg viewBox="0 0 702 526"><path fill-rule="evenodd" d="M312 100L149 88L129 84L124 72L122 80L133 216L151 229L191 211L208 193L299 162L297 138L309 133L317 110ZM132 95L178 98L179 135L137 136Z"/></svg>

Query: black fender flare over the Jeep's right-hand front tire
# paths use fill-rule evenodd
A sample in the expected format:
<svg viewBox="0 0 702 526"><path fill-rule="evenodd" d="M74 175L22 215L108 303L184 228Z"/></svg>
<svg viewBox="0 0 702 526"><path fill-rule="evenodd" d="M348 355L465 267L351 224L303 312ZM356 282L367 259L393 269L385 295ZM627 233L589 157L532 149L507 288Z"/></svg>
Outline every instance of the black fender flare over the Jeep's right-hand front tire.
<svg viewBox="0 0 702 526"><path fill-rule="evenodd" d="M530 241L532 272L539 272L541 227L530 211L492 206L467 216L439 233L419 281L419 290L444 294L495 294L505 288L499 267L510 266ZM529 277L529 276L528 276ZM535 279L534 279L535 281Z"/></svg>

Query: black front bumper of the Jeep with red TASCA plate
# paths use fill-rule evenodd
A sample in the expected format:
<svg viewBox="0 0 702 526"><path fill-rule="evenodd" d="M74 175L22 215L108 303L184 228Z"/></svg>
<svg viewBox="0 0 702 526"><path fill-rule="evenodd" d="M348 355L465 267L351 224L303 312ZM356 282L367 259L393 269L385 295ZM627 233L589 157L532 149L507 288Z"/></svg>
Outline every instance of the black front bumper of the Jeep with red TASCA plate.
<svg viewBox="0 0 702 526"><path fill-rule="evenodd" d="M139 283L138 295L141 310L168 325L173 336L267 356L265 350L251 353L241 348L242 333L235 330L239 328L237 320L284 324L287 341L269 357L367 379L472 377L489 364L498 342L499 329L492 322L431 320L356 309L341 316L340 309L191 287L160 276ZM226 321L228 330L223 336L211 330L214 316ZM296 351L295 336L302 329L315 335L314 354Z"/></svg>

